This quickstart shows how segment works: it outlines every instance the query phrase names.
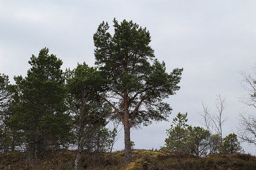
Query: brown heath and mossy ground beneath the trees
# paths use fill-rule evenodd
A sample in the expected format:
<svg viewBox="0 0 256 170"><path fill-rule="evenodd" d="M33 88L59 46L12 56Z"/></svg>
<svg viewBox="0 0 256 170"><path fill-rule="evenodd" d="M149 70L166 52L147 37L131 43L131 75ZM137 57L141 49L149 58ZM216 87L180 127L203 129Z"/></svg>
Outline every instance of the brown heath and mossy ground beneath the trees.
<svg viewBox="0 0 256 170"><path fill-rule="evenodd" d="M204 158L181 152L133 150L132 162L125 165L123 151L81 154L81 169L256 169L250 154L214 154ZM29 159L22 152L0 155L0 169L74 169L76 151L59 150L44 159Z"/></svg>

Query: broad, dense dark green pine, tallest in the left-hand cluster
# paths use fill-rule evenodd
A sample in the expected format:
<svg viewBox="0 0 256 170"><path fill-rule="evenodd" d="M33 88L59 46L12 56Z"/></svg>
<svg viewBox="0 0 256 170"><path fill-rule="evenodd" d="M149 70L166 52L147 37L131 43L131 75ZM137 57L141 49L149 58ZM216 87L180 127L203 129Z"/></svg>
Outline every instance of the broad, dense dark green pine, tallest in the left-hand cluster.
<svg viewBox="0 0 256 170"><path fill-rule="evenodd" d="M67 145L71 136L60 69L63 62L48 52L44 48L38 57L32 55L27 76L15 77L19 100L9 121L13 129L23 133L26 149L35 158Z"/></svg>

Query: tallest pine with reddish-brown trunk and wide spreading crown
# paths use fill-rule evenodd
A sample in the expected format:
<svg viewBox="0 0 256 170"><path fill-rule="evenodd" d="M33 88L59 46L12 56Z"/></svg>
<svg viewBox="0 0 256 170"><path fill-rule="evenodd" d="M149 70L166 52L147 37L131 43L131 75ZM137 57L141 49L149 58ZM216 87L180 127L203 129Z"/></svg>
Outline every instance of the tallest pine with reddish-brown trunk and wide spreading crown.
<svg viewBox="0 0 256 170"><path fill-rule="evenodd" d="M96 65L107 82L97 95L112 107L112 118L123 124L127 164L131 162L130 129L166 120L171 107L162 100L179 90L183 69L168 74L164 62L153 61L146 28L114 19L113 36L108 29L108 23L102 22L93 36Z"/></svg>

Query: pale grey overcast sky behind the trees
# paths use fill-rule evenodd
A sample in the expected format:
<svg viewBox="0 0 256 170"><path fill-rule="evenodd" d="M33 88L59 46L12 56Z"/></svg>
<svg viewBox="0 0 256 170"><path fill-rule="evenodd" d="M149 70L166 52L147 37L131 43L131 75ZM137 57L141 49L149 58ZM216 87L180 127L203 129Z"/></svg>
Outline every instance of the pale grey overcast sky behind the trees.
<svg viewBox="0 0 256 170"><path fill-rule="evenodd" d="M173 108L169 122L154 122L131 131L134 148L160 148L167 138L166 129L178 112L188 112L188 124L203 126L201 102L216 113L216 95L226 96L223 136L235 132L238 115L255 109L246 107L239 97L238 71L253 71L256 59L256 1L254 0L168 0L168 1L18 1L0 0L0 73L26 76L32 54L47 47L62 59L63 67L75 68L77 62L94 66L93 34L98 25L113 19L133 20L146 27L151 47L167 72L184 68L180 90L165 101ZM113 33L113 27L110 27ZM123 131L115 150L124 148ZM255 146L242 143L243 149L256 155Z"/></svg>

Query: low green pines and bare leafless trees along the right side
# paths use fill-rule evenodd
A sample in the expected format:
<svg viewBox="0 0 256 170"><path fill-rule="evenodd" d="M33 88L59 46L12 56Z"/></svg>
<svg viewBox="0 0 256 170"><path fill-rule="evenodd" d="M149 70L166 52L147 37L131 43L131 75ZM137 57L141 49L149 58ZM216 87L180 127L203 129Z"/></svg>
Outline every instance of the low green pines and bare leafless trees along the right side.
<svg viewBox="0 0 256 170"><path fill-rule="evenodd" d="M241 85L247 95L240 98L241 103L256 108L256 66L253 73L246 74L239 71L242 76ZM230 154L234 152L244 152L240 146L241 142L256 145L256 117L251 113L240 113L236 133L230 133L225 138L222 137L222 125L227 120L224 115L226 109L226 96L217 95L215 107L217 113L211 114L208 105L202 102L203 112L199 112L203 117L204 128L200 126L192 127L186 122L187 113L178 113L173 119L170 129L167 129L168 138L165 139L163 151L187 152L197 156L207 156L210 154Z"/></svg>

